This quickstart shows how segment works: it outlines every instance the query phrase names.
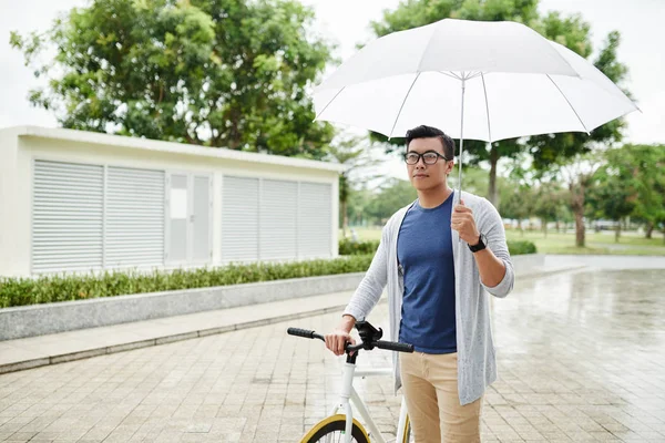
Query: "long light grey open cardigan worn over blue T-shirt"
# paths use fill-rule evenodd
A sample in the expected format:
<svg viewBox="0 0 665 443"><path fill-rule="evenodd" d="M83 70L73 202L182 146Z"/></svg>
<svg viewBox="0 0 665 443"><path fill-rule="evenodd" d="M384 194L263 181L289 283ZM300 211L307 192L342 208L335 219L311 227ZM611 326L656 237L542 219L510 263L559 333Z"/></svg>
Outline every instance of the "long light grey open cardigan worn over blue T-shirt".
<svg viewBox="0 0 665 443"><path fill-rule="evenodd" d="M505 244L503 224L494 206L485 198L466 192L462 192L462 199L473 210L475 226L485 235L488 247L505 265L503 280L493 288L484 286L480 280L473 254L466 243L459 241L457 230L448 227L452 233L456 275L458 390L460 403L468 404L480 399L485 388L497 380L497 359L490 326L488 292L497 297L505 297L513 288L514 272ZM387 287L390 339L393 341L399 338L403 296L403 278L397 266L397 236L411 206L412 204L393 214L383 227L381 241L371 265L345 309L345 313L358 320L365 319ZM397 392L401 387L397 352L392 354L392 365Z"/></svg>

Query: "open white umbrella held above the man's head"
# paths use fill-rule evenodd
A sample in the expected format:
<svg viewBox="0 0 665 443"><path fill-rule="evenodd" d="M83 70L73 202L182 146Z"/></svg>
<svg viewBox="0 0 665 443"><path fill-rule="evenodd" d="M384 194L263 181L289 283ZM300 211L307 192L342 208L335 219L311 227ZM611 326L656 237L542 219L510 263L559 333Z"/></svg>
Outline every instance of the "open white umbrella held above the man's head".
<svg viewBox="0 0 665 443"><path fill-rule="evenodd" d="M523 24L453 19L370 42L314 104L317 120L388 137L426 124L459 138L460 190L464 137L590 133L637 110L593 64Z"/></svg>

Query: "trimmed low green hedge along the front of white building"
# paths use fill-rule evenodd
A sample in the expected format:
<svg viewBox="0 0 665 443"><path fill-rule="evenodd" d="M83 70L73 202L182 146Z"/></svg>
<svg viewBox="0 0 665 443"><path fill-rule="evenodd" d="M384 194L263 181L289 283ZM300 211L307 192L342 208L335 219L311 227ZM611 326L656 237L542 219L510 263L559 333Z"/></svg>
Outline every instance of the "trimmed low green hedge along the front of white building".
<svg viewBox="0 0 665 443"><path fill-rule="evenodd" d="M231 265L175 271L114 271L102 275L0 278L0 308L130 293L209 288L287 278L364 272L372 255L285 264Z"/></svg>

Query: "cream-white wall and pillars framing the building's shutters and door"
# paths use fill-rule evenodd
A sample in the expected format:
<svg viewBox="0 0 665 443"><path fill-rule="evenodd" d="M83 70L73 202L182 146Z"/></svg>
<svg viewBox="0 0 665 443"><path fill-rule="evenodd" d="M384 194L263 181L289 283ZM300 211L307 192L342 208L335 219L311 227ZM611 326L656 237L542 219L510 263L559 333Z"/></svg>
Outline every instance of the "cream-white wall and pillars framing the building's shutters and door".
<svg viewBox="0 0 665 443"><path fill-rule="evenodd" d="M222 183L225 174L233 176L306 181L332 185L331 250L337 255L338 231L338 174L308 167L260 164L246 161L152 152L114 145L91 145L82 142L20 136L0 132L0 275L30 275L32 169L34 159L71 162L94 165L164 169L168 172L201 172L213 176L213 265L221 262L222 249ZM18 140L18 143L17 143ZM7 146L18 144L17 150ZM7 153L16 153L16 161ZM11 214L7 214L10 209Z"/></svg>

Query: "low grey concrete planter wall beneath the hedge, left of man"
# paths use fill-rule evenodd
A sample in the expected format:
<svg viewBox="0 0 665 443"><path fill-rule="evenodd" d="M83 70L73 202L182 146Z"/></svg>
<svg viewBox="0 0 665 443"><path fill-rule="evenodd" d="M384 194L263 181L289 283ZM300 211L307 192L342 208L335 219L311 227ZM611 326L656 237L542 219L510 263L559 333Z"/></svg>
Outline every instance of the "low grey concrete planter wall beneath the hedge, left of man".
<svg viewBox="0 0 665 443"><path fill-rule="evenodd" d="M0 309L0 343L37 336L355 289L365 272L139 293Z"/></svg>

